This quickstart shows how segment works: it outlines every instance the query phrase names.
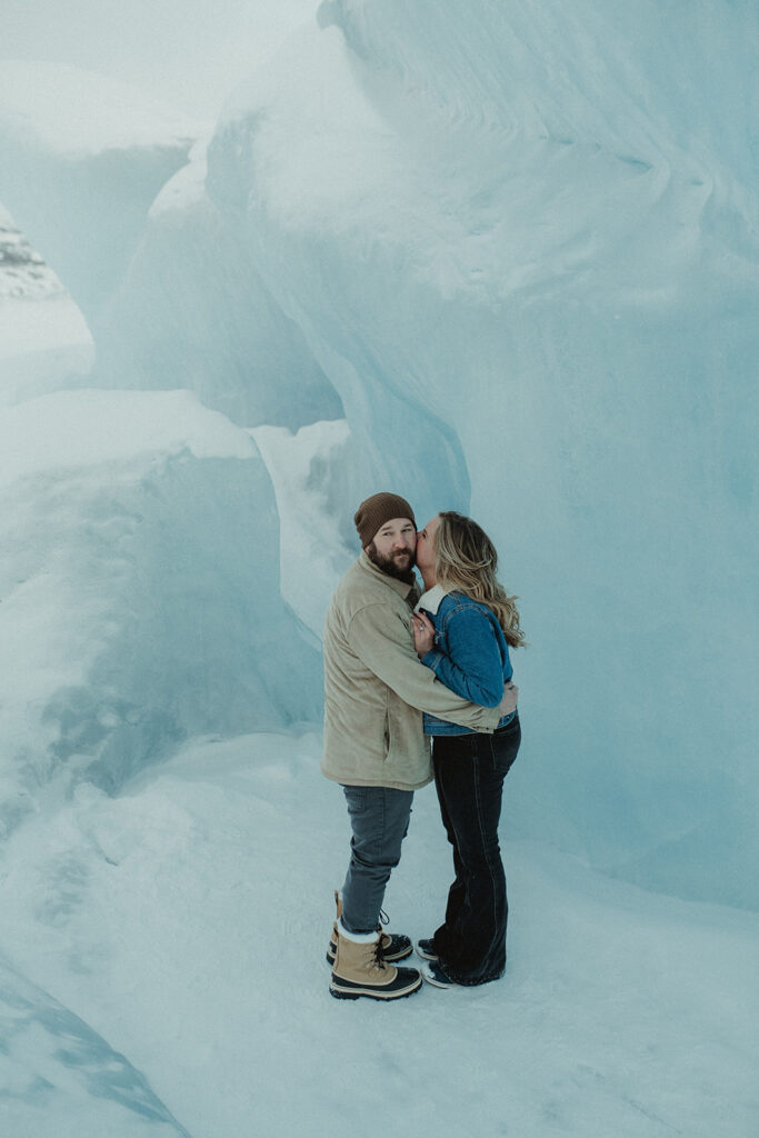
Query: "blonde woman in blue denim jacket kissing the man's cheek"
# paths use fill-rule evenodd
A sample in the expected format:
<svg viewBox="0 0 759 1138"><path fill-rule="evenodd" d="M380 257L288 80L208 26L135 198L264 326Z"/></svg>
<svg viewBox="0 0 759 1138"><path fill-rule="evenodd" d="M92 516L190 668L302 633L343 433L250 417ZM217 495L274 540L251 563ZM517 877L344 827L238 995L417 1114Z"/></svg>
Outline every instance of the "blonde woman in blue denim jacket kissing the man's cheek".
<svg viewBox="0 0 759 1138"><path fill-rule="evenodd" d="M416 538L424 580L414 615L414 646L422 663L457 695L497 707L512 678L509 646L523 644L514 597L496 579L497 555L477 522L447 511ZM453 846L455 879L445 921L416 950L429 962L430 983L484 984L506 965L506 879L498 847L503 780L517 758L519 716L504 717L494 735L424 715L432 737L435 785Z"/></svg>

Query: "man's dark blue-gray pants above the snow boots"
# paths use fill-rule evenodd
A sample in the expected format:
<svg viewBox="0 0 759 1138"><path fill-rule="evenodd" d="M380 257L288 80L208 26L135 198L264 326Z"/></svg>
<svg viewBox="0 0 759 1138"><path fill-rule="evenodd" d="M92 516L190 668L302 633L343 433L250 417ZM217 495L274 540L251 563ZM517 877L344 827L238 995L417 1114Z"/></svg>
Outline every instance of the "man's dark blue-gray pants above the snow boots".
<svg viewBox="0 0 759 1138"><path fill-rule="evenodd" d="M348 932L374 932L385 887L401 860L414 792L388 786L344 786L353 838L343 887L343 923Z"/></svg>

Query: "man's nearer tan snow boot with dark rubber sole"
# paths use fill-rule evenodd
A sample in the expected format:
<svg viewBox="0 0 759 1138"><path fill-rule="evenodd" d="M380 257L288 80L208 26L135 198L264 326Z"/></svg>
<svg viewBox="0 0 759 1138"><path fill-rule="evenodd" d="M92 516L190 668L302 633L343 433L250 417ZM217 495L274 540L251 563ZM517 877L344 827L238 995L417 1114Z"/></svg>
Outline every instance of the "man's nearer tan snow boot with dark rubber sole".
<svg viewBox="0 0 759 1138"><path fill-rule="evenodd" d="M378 932L348 932L339 921L336 935L330 992L337 999L399 999L419 991L422 978L416 968L396 968L382 958Z"/></svg>

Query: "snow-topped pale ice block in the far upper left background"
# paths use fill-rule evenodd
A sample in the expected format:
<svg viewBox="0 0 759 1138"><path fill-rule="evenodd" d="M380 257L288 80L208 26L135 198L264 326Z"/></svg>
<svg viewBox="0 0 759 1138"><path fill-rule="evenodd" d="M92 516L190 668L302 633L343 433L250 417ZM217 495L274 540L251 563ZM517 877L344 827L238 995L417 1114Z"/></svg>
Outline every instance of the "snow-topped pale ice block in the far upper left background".
<svg viewBox="0 0 759 1138"><path fill-rule="evenodd" d="M0 200L91 324L197 123L63 64L5 61Z"/></svg>

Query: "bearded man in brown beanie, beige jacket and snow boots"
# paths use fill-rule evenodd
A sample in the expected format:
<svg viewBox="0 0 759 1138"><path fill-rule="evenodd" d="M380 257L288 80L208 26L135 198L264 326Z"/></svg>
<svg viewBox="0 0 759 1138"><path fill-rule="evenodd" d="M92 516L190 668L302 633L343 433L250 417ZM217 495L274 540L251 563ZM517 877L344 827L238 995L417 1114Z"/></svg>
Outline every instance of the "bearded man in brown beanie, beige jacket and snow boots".
<svg viewBox="0 0 759 1138"><path fill-rule="evenodd" d="M416 991L421 976L391 963L411 954L411 941L381 933L380 910L401 860L414 791L432 777L422 711L492 733L517 695L512 688L497 708L468 703L416 657L416 522L409 503L374 494L354 521L362 553L332 595L323 642L322 772L343 785L353 827L328 950L330 991L338 999L397 999Z"/></svg>

